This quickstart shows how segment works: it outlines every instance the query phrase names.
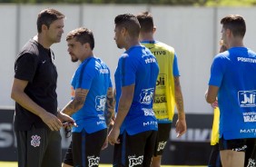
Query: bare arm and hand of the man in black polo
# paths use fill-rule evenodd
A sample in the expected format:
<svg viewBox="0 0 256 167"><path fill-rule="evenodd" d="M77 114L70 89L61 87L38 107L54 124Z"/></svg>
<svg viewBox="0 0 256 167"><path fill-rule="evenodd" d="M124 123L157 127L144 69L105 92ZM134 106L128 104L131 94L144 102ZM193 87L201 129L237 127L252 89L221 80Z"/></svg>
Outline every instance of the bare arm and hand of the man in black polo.
<svg viewBox="0 0 256 167"><path fill-rule="evenodd" d="M60 120L52 113L48 113L44 110L43 107L39 106L25 93L25 87L28 81L14 79L11 98L15 100L16 103L19 103L27 111L34 113L39 116L47 126L52 131L58 131L62 127Z"/></svg>

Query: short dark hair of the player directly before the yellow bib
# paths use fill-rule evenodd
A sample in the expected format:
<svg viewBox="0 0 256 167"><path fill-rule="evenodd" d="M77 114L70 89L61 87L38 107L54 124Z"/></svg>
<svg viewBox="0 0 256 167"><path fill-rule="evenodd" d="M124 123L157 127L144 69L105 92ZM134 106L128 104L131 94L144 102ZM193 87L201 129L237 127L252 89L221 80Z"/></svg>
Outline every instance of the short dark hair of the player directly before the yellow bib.
<svg viewBox="0 0 256 167"><path fill-rule="evenodd" d="M120 28L124 27L128 31L128 33L133 37L137 37L140 34L141 25L135 15L117 15L114 18L114 24L115 26Z"/></svg>

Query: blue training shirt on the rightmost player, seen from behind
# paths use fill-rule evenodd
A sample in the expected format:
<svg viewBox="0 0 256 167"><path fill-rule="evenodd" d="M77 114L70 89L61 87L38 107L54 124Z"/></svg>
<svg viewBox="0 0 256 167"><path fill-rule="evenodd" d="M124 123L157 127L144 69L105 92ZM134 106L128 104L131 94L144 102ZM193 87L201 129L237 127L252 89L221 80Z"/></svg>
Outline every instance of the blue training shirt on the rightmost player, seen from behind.
<svg viewBox="0 0 256 167"><path fill-rule="evenodd" d="M219 87L220 137L256 138L256 54L232 47L216 55L209 84Z"/></svg>

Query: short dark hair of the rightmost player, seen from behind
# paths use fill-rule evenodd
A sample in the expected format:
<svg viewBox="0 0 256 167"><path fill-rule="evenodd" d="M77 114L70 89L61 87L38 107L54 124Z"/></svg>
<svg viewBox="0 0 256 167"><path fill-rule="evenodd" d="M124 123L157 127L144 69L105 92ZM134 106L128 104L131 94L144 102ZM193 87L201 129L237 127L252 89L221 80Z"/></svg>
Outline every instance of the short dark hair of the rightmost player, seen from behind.
<svg viewBox="0 0 256 167"><path fill-rule="evenodd" d="M234 36L243 37L246 32L246 25L241 15L227 15L221 20L224 29L230 29Z"/></svg>

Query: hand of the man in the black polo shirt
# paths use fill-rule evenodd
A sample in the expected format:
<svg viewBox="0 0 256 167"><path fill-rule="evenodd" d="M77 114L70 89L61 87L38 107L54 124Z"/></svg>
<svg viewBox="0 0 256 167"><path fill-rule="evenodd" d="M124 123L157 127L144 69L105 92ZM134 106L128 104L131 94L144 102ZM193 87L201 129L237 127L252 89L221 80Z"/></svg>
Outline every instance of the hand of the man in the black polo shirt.
<svg viewBox="0 0 256 167"><path fill-rule="evenodd" d="M44 112L39 117L52 131L59 131L63 126L62 122L52 113Z"/></svg>

